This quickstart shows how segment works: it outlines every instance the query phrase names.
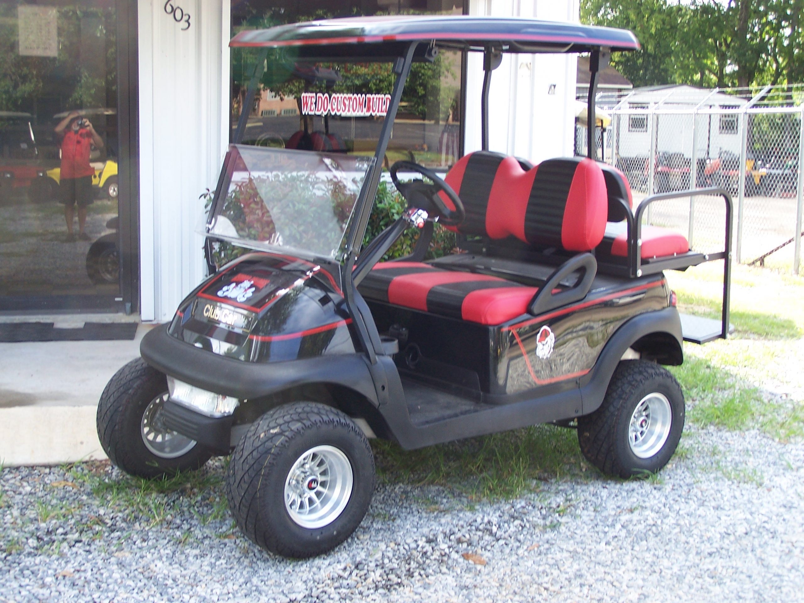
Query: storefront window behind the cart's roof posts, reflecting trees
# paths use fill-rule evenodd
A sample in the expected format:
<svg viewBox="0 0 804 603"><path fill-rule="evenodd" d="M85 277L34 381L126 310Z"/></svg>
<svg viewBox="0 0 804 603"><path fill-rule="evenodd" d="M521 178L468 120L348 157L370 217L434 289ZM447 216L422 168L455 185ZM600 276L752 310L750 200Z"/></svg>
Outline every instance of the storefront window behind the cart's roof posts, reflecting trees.
<svg viewBox="0 0 804 603"><path fill-rule="evenodd" d="M400 0L385 2L281 2L248 0L232 2L232 35L244 29L273 27L284 23L374 14L461 14L464 3ZM258 51L232 49L232 134L243 110L251 70ZM404 89L385 166L407 159L437 170L447 170L460 154L461 68L457 51L442 51L432 64L414 64ZM375 149L382 117L371 107L356 110L342 98L347 90L360 102L375 101L392 90L390 65L318 65L319 74L306 83L292 68L270 58L260 90L252 106L244 144L300 150L341 151L371 154ZM294 84L290 81L294 80ZM322 95L319 100L318 94ZM311 102L312 96L315 102ZM326 95L326 100L324 96ZM367 101L368 99L368 101ZM334 101L334 102L333 102ZM329 103L322 107L321 102ZM354 101L355 103L358 100ZM356 106L356 105L355 105ZM326 110L324 110L326 109Z"/></svg>

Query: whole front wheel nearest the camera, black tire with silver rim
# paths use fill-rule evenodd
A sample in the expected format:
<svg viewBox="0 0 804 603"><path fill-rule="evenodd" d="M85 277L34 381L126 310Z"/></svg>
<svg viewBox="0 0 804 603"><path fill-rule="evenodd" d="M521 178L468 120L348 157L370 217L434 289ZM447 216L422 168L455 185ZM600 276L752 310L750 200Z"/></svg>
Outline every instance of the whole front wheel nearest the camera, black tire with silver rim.
<svg viewBox="0 0 804 603"><path fill-rule="evenodd" d="M240 439L226 495L249 539L304 559L355 531L374 482L374 456L359 427L336 408L297 402L266 412Z"/></svg>

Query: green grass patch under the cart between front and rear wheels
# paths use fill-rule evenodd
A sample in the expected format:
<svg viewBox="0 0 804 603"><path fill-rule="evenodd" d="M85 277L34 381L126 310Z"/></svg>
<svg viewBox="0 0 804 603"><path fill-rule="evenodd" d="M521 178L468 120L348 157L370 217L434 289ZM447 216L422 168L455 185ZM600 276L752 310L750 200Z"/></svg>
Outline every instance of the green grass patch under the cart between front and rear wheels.
<svg viewBox="0 0 804 603"><path fill-rule="evenodd" d="M384 482L447 486L470 501L511 499L539 480L584 475L574 429L536 425L466 441L406 451L372 441Z"/></svg>

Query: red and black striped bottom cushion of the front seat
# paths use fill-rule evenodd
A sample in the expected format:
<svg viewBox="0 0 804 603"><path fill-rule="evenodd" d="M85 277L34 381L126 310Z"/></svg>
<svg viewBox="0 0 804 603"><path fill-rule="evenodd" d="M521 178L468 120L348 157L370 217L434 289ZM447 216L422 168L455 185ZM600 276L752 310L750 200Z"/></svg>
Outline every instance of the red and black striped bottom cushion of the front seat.
<svg viewBox="0 0 804 603"><path fill-rule="evenodd" d="M499 325L527 314L538 291L504 278L423 262L383 262L360 283L367 299L481 325Z"/></svg>

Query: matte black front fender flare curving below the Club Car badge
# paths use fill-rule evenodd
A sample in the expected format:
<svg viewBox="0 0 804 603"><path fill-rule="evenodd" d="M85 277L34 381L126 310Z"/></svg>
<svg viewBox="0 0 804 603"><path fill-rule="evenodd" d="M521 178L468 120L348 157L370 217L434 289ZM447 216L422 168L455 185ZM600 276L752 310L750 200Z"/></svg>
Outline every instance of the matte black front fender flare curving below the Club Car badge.
<svg viewBox="0 0 804 603"><path fill-rule="evenodd" d="M140 355L156 370L209 392L256 399L310 383L342 385L377 406L374 379L363 354L334 354L279 363L252 363L191 346L158 326L140 343Z"/></svg>

